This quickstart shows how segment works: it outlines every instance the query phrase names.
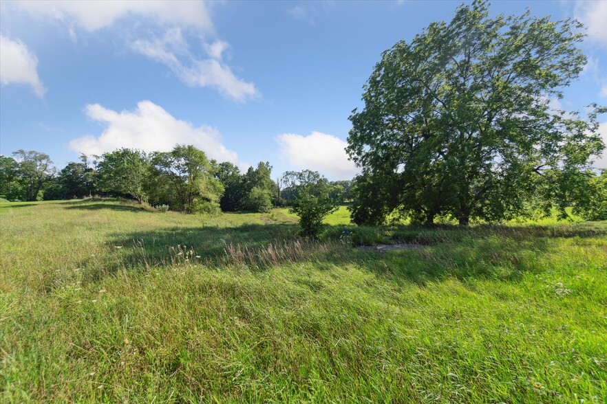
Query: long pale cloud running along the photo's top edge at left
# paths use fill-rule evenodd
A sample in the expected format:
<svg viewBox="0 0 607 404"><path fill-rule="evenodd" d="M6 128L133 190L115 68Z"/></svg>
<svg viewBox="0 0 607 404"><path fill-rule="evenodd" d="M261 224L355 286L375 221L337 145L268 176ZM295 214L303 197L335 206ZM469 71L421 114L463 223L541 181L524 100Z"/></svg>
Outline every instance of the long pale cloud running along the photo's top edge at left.
<svg viewBox="0 0 607 404"><path fill-rule="evenodd" d="M134 14L160 24L213 30L203 1L43 0L17 1L15 4L30 14L76 23L88 32L109 27L119 19Z"/></svg>

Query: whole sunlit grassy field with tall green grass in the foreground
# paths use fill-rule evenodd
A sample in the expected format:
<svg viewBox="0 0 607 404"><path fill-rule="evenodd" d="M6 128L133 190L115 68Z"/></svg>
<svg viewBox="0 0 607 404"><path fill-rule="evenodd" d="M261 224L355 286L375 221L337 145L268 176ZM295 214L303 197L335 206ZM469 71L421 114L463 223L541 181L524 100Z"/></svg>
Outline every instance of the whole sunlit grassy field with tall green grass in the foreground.
<svg viewBox="0 0 607 404"><path fill-rule="evenodd" d="M0 204L0 401L607 402L607 223Z"/></svg>

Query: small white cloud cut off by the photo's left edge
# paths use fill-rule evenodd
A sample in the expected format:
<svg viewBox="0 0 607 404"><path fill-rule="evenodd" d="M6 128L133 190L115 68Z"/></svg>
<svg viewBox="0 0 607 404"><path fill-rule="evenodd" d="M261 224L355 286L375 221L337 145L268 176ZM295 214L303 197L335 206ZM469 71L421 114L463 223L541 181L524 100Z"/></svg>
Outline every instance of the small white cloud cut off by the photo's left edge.
<svg viewBox="0 0 607 404"><path fill-rule="evenodd" d="M10 83L28 84L36 96L42 98L46 89L38 76L38 58L25 43L12 41L0 34L0 82L3 85Z"/></svg>

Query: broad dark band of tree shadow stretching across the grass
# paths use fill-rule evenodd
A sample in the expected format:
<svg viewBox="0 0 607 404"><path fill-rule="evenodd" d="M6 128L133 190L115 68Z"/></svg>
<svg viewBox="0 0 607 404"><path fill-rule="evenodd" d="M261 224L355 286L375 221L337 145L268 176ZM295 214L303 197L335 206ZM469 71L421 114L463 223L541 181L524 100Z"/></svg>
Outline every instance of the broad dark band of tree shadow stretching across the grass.
<svg viewBox="0 0 607 404"><path fill-rule="evenodd" d="M392 229L392 240L404 237L423 247L379 254L342 243L341 225L330 227L326 239L321 241L302 240L297 230L297 225L290 224L202 225L115 234L108 240L112 252L103 264L89 262L89 280L98 280L118 269L149 271L202 264L214 269L244 267L264 271L275 265L308 262L319 269L356 265L398 284L423 285L446 278L518 282L526 272L546 271L546 254L563 254L560 238L589 239L590 244L592 239L607 238L606 223L468 229L402 226ZM83 266L87 267L87 262Z"/></svg>

